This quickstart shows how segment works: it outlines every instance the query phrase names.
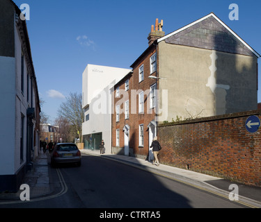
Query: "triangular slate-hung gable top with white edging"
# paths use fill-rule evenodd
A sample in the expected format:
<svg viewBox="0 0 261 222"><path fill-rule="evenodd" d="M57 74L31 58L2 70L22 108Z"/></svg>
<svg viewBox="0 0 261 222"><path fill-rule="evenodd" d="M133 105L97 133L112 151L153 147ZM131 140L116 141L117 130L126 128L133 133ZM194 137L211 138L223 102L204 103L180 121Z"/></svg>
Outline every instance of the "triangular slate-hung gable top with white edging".
<svg viewBox="0 0 261 222"><path fill-rule="evenodd" d="M168 44L260 57L258 53L253 51L239 37L236 37L235 33L231 33L214 16L209 16L180 30L174 32L173 35L169 35L169 37L162 38L162 40L165 40Z"/></svg>

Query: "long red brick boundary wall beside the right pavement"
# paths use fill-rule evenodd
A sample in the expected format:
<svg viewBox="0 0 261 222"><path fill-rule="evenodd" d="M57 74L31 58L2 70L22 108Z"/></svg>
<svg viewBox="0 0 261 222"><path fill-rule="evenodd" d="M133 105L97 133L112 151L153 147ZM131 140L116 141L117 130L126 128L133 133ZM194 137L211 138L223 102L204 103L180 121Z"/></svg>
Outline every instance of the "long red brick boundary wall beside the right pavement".
<svg viewBox="0 0 261 222"><path fill-rule="evenodd" d="M246 119L261 110L161 125L159 162L261 187L261 129Z"/></svg>

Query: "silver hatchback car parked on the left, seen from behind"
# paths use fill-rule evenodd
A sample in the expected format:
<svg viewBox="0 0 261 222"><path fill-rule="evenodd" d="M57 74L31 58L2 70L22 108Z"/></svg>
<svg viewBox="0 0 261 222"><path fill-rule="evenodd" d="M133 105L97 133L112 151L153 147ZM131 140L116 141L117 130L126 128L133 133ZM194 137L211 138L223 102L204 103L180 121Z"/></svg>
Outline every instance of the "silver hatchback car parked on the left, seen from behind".
<svg viewBox="0 0 261 222"><path fill-rule="evenodd" d="M81 166L81 151L76 144L61 143L54 146L51 164L54 166L59 163L77 163L78 166Z"/></svg>

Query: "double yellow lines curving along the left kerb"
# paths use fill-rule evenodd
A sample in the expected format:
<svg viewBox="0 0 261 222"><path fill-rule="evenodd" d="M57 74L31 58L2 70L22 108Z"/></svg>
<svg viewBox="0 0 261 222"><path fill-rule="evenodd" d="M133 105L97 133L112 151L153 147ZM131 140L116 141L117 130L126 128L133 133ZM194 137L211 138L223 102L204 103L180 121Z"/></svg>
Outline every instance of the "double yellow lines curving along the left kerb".
<svg viewBox="0 0 261 222"><path fill-rule="evenodd" d="M31 198L31 200L29 200L29 201L13 200L13 201L0 202L0 205L15 204L15 203L30 203L30 202L41 201L41 200L49 200L49 199L52 199L52 198L56 198L58 196L62 196L63 194L65 194L68 191L68 187L66 185L66 182L63 178L63 175L62 175L60 169L56 169L56 172L58 174L59 182L60 182L61 187L62 187L61 191L58 192L58 194L54 194L54 195L51 195L51 196L44 196L44 197L40 197L40 198Z"/></svg>

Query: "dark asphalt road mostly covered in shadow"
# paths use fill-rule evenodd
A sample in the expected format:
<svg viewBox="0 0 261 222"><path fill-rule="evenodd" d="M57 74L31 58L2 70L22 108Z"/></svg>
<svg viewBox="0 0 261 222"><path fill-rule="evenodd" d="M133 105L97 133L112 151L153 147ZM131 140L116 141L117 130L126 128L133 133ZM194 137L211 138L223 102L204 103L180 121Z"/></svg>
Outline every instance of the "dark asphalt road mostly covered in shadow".
<svg viewBox="0 0 261 222"><path fill-rule="evenodd" d="M118 208L150 208L160 212L161 208L246 207L164 176L84 154L81 167L50 168L50 182L54 194L7 207L97 208L100 212L103 208L113 208L115 212Z"/></svg>

